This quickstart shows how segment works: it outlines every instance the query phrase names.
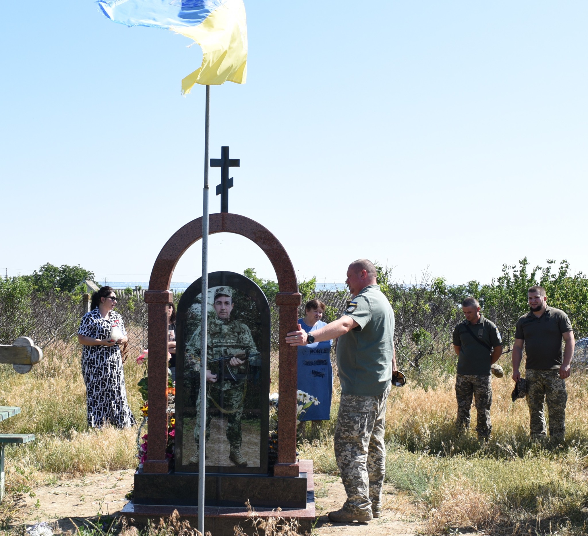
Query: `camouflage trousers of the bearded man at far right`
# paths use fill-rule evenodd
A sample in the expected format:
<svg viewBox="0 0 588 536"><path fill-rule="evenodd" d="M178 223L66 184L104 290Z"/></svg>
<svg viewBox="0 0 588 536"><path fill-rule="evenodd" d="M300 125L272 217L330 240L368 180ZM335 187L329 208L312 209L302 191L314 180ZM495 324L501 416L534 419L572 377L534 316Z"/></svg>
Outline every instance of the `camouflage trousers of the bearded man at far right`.
<svg viewBox="0 0 588 536"><path fill-rule="evenodd" d="M549 411L549 435L563 440L566 433L566 380L559 377L559 369L534 370L527 368L527 404L531 416L531 436L545 437L543 402L547 398Z"/></svg>

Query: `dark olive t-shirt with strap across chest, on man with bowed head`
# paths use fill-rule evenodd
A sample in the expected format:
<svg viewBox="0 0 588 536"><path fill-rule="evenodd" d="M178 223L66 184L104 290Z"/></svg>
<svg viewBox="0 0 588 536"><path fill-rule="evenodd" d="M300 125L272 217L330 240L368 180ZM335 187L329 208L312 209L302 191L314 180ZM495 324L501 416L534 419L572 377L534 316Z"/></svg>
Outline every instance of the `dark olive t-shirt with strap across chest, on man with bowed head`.
<svg viewBox="0 0 588 536"><path fill-rule="evenodd" d="M467 331L472 331L478 341ZM453 330L453 345L459 346L457 358L457 374L475 374L476 376L488 376L490 374L491 352L490 347L502 346L502 337L496 324L480 315L480 320L472 324L467 320L457 324Z"/></svg>

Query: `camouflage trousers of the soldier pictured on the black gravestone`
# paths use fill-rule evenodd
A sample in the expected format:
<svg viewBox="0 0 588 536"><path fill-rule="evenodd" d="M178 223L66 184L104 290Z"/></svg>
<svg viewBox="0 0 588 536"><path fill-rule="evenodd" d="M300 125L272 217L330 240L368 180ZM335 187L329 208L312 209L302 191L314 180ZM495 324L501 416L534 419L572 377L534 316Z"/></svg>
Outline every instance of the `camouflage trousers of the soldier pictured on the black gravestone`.
<svg viewBox="0 0 588 536"><path fill-rule="evenodd" d="M231 448L240 448L242 441L241 434L241 417L243 416L243 390L245 383L234 384L230 389L223 391L209 387L209 393L206 397L206 441L211 437L212 412L216 408L211 397L216 403L228 413L220 412L221 418L227 418L226 438L229 440ZM194 427L194 440L196 445L200 441L200 396L196 400L196 426Z"/></svg>

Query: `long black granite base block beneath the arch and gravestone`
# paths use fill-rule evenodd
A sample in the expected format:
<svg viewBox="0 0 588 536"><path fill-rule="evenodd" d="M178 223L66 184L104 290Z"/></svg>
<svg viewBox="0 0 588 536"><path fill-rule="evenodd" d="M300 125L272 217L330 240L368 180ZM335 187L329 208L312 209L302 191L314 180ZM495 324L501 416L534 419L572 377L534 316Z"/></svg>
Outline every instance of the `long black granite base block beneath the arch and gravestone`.
<svg viewBox="0 0 588 536"><path fill-rule="evenodd" d="M211 507L306 508L306 473L299 477L206 474L205 504ZM198 474L135 473L136 505L198 505Z"/></svg>

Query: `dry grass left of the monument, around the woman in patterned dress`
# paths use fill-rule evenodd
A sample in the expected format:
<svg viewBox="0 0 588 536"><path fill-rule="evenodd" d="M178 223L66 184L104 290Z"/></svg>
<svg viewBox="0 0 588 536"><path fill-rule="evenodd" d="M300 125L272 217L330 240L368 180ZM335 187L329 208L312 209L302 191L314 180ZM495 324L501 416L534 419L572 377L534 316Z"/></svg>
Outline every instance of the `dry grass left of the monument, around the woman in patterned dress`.
<svg viewBox="0 0 588 536"><path fill-rule="evenodd" d="M140 415L141 397L135 388L142 370L135 360L125 363L129 403ZM88 430L86 393L77 343L48 349L28 374L0 367L0 405L18 406L21 414L0 423L3 433L34 433L36 440L6 448L6 487L21 491L32 484L136 465L136 430Z"/></svg>

